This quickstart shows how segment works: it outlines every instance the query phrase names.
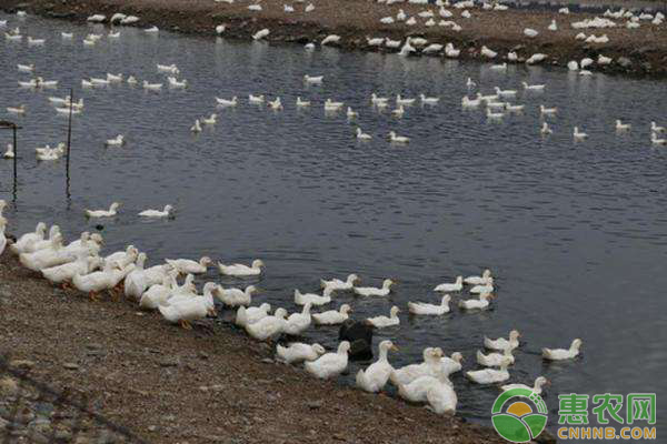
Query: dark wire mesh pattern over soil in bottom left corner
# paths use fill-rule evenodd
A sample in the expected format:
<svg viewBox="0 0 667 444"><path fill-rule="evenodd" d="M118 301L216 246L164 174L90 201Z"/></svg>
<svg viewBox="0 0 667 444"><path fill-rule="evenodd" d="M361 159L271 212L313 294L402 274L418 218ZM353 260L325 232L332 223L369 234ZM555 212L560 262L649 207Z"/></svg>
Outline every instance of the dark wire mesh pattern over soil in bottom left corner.
<svg viewBox="0 0 667 444"><path fill-rule="evenodd" d="M84 391L36 381L26 364L0 354L0 443L146 443L96 413Z"/></svg>

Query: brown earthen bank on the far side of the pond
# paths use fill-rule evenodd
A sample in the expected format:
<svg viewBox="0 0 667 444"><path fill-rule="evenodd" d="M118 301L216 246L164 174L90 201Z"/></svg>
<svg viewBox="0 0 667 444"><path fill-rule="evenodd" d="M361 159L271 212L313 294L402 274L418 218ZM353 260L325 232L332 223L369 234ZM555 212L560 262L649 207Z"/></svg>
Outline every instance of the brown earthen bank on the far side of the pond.
<svg viewBox="0 0 667 444"><path fill-rule="evenodd" d="M295 6L295 12L283 11L283 4ZM591 65L589 69L611 74L626 74L644 78L667 78L667 22L653 26L641 21L639 29L629 30L623 26L599 30L575 30L570 22L595 16L589 13L558 14L550 11L510 9L508 11L482 11L471 9L472 18L460 17L460 10L449 8L462 30L455 32L439 26L426 27L425 20L408 27L405 23L382 24L382 17L396 17L399 9L408 16L415 16L425 9L431 9L437 16L438 8L430 6L395 3L390 7L370 0L316 0L315 10L305 12L308 1L265 0L261 11L248 10L248 1L236 0L232 4L213 0L68 0L50 2L44 0L0 0L0 9L13 12L23 9L29 13L83 22L93 13L107 16L116 12L135 14L140 18L139 27L157 26L160 29L215 36L215 28L225 24L221 37L250 40L251 36L263 29L270 33L269 42L293 42L305 44L320 42L326 36L335 33L341 37L334 46L348 50L396 52L387 48L378 49L367 44L367 37L382 37L402 40L407 36L424 37L429 43L454 43L461 49L460 59L481 59L480 49L487 46L498 52L494 63L507 60L509 51L516 51L519 62L534 53L545 53L548 58L544 65L565 68L570 60L591 58L599 54L611 58L606 65ZM656 3L658 6L660 3ZM631 6L631 4L630 4ZM557 31L547 30L556 20ZM619 22L623 23L623 22ZM539 31L534 39L524 36L525 28ZM579 32L597 36L607 34L608 43L585 43L575 40ZM431 57L444 57L441 53ZM489 60L486 60L489 61ZM567 68L565 68L567 69Z"/></svg>

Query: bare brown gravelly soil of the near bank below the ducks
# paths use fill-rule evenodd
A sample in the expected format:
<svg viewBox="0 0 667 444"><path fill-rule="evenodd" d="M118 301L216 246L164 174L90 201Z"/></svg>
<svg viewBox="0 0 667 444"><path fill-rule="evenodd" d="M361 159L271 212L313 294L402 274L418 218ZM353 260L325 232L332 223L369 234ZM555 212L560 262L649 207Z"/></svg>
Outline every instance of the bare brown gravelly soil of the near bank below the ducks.
<svg viewBox="0 0 667 444"><path fill-rule="evenodd" d="M30 376L59 391L86 392L98 413L148 442L502 442L490 428L275 363L271 347L223 324L185 331L130 302L53 289L8 252L0 282L0 354L31 361Z"/></svg>

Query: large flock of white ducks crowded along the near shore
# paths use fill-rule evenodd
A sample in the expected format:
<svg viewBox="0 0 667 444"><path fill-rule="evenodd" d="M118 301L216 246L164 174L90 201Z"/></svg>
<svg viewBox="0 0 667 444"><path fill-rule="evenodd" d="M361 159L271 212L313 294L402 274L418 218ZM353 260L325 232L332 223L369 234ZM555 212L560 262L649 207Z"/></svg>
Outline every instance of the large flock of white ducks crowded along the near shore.
<svg viewBox="0 0 667 444"><path fill-rule="evenodd" d="M293 303L301 311L289 314L285 307L272 310L268 303L253 304L253 294L259 290L255 285L223 287L217 282L206 282L201 293L195 284L195 276L207 273L210 266L222 276L238 280L258 278L265 263L255 260L247 264L215 263L205 256L199 261L190 259L166 259L152 266L147 264L147 254L133 245L123 251L102 254L102 236L99 233L81 233L80 238L64 243L58 225L52 225L47 235L47 224L38 223L33 232L20 235L16 242L4 235L7 219L2 216L6 202L0 200L0 254L9 246L18 255L19 262L27 269L40 273L53 285L73 286L87 293L91 301L107 292L119 300L121 294L141 310L157 310L162 317L183 329L192 329L192 323L208 316L217 316L219 310L235 312L233 323L243 329L257 341L280 340L276 345L277 360L288 364L303 364L305 370L318 379L332 379L348 367L350 343L341 341L336 351L327 352L321 345L297 342L303 333L315 325L336 327L350 319L352 307L341 304L338 310L325 310L340 293L355 294L358 299L387 297L395 281L387 279L380 287L361 286L360 279L350 274L346 280L321 279L321 292L301 293L293 291ZM88 218L115 215L119 205L109 211L86 211ZM111 214L113 213L113 214ZM160 212L158 212L160 213ZM146 216L161 214L143 214ZM182 278L182 280L181 280ZM460 311L480 311L489 307L494 299L495 281L491 272L485 270L481 275L457 276L455 282L440 283L434 291L440 294L440 303L408 302L407 310L417 316L441 316L451 312L451 295L465 289L474 299L458 297ZM288 301L286 301L288 303ZM311 313L317 307L318 313ZM400 324L399 306L392 306L389 315L368 317L365 323L375 329L391 329ZM390 331L390 330L389 330ZM335 330L331 330L334 333ZM528 387L541 393L548 384L544 376L535 380L534 385L506 384L510 379L508 369L515 363L515 353L520 347L519 332L512 330L508 337L488 339L485 336L475 360L479 370L465 372L472 383L499 384L502 391L514 387ZM581 340L575 339L568 349L542 349L542 357L548 361L571 360L579 354ZM356 384L360 390L377 393L385 390L387 383L397 387L400 397L411 403L428 403L434 412L454 414L457 395L449 375L462 369L464 355L454 352L445 355L438 346L424 349L424 361L404 367L394 367L389 362L389 352L397 350L392 341L381 341L378 345L378 360L356 374Z"/></svg>

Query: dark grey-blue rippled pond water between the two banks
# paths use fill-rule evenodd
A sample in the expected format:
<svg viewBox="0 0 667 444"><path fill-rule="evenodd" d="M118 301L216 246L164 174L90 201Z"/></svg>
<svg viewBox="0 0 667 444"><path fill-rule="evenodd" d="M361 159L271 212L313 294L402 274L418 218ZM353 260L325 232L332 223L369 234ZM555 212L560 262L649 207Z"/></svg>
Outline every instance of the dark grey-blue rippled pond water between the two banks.
<svg viewBox="0 0 667 444"><path fill-rule="evenodd" d="M10 231L32 230L38 221L57 222L71 238L92 230L86 208L122 203L104 222L108 251L138 245L152 263L163 258L210 255L223 262L267 264L263 292L255 301L297 310L293 289L316 291L320 278L358 273L366 285L398 279L387 299L336 297L350 303L354 316L387 314L404 307L398 327L381 330L401 351L396 366L420 360L425 346L460 351L465 370L476 367L482 337L522 333L511 381L531 384L547 376L547 404L556 424L558 393L666 394L658 375L667 366L667 151L654 148L649 122L665 122L665 83L563 70L405 59L390 54L345 52L299 46L232 42L122 29L118 41L83 47L79 27L29 17L17 23L26 36L47 38L43 48L0 42L4 74L0 101L26 104L19 119L19 184L7 215ZM74 40L60 39L61 31ZM106 32L106 31L104 31ZM18 88L27 74L17 63L34 63L58 90ZM146 92L127 83L81 90L82 78L107 72L135 74L139 81L166 82L156 63L177 63L190 87ZM302 75L323 74L321 87L305 87ZM29 75L28 75L29 77ZM487 122L480 110L461 110L471 77L488 93L492 87L520 89L520 82L546 83L544 93L519 91L524 114ZM66 140L67 119L47 97L74 85L86 109L74 117L71 184L64 161L37 162L33 149ZM441 98L437 107L411 107L402 119L371 109L371 92ZM248 104L249 93L280 95L282 112ZM216 111L215 97L238 95L236 109ZM296 98L313 101L297 110ZM326 115L326 98L359 111L350 124L345 113ZM539 135L538 107L558 107L555 133ZM199 135L196 118L218 112L218 124ZM633 124L614 132L614 121ZM660 123L660 122L659 122ZM352 137L358 124L375 135ZM578 124L589 134L573 142ZM411 138L388 143L396 130ZM126 134L121 149L103 141ZM3 148L9 132L0 133ZM12 199L11 162L0 160L0 198ZM136 214L171 203L176 218L146 222ZM439 301L431 289L456 275L489 268L497 275L492 310L442 317L412 317L408 301ZM220 281L211 271L198 282ZM223 280L225 284L238 282ZM465 295L465 293L464 293ZM452 294L456 302L461 297ZM547 365L542 346L584 340L583 357ZM337 329L311 329L308 341L337 344ZM351 383L359 369L350 365ZM459 414L489 422L495 386L476 386L452 376ZM659 416L658 416L659 418ZM663 422L664 424L664 422Z"/></svg>

